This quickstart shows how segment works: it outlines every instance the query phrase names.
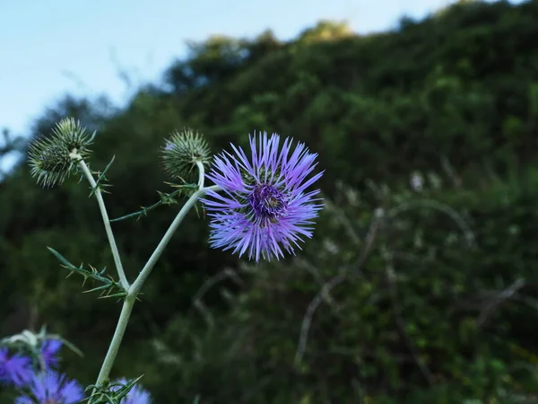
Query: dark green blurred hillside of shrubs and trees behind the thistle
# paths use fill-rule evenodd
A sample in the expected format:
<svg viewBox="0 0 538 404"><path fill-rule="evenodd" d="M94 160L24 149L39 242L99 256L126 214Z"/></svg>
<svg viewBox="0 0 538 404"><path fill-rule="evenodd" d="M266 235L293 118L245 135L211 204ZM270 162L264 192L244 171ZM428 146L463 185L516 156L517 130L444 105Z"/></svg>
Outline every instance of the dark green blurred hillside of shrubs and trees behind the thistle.
<svg viewBox="0 0 538 404"><path fill-rule="evenodd" d="M456 4L359 36L319 22L290 42L212 37L124 110L66 98L98 131L112 217L169 191L163 138L195 127L219 152L253 130L319 153L326 208L297 258L210 250L188 217L144 286L114 373L156 403L538 402L538 3ZM22 146L23 148L24 146ZM414 187L410 185L414 178ZM113 268L84 183L0 183L0 335L43 323L81 347L91 383L119 304L80 294L66 258ZM115 226L131 278L178 206Z"/></svg>

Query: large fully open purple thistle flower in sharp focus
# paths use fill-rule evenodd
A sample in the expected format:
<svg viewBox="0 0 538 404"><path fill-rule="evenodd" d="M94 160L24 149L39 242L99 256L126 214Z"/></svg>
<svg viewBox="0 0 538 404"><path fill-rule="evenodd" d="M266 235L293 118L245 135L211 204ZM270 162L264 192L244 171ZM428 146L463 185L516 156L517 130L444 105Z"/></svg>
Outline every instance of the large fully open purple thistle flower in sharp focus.
<svg viewBox="0 0 538 404"><path fill-rule="evenodd" d="M259 134L250 137L252 159L231 145L235 155L224 152L214 158L207 178L222 193L207 190L203 198L211 217L210 244L213 248L233 249L248 259L283 257L283 250L294 253L303 237L312 236L312 221L323 205L313 198L319 190L306 189L323 175L307 180L317 165L317 154L299 143L291 153L292 139L286 138L279 150L280 136Z"/></svg>

